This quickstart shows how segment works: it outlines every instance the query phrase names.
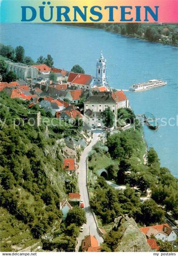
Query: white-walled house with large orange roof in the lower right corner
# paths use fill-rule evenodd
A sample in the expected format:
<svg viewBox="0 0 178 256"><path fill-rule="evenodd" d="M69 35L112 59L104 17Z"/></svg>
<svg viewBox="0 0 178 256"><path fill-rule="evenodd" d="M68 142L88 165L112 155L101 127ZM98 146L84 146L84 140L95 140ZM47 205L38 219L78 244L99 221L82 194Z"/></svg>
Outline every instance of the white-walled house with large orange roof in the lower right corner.
<svg viewBox="0 0 178 256"><path fill-rule="evenodd" d="M147 238L151 238L151 235L154 235L156 239L160 239L162 241L172 242L177 238L175 231L173 231L167 223L140 228L140 231L142 231Z"/></svg>

